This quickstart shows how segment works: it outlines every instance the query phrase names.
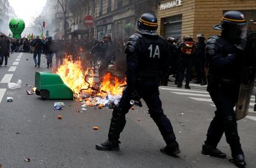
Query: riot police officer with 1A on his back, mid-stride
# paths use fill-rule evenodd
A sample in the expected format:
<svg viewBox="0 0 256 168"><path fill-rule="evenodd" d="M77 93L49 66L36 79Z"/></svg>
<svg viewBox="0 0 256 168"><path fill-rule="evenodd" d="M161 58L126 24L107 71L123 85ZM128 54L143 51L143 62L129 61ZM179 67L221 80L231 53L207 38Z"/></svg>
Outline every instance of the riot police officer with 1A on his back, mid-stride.
<svg viewBox="0 0 256 168"><path fill-rule="evenodd" d="M171 156L180 153L169 119L164 115L159 97L161 74L168 71L168 44L156 32L158 22L153 14L143 14L137 21L137 33L127 42L127 88L118 106L114 107L108 140L96 145L99 150L119 150L119 135L126 125L126 114L131 100L143 98L150 117L158 126L166 147L162 153Z"/></svg>

